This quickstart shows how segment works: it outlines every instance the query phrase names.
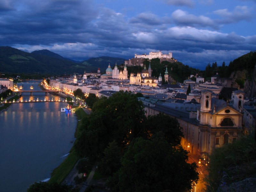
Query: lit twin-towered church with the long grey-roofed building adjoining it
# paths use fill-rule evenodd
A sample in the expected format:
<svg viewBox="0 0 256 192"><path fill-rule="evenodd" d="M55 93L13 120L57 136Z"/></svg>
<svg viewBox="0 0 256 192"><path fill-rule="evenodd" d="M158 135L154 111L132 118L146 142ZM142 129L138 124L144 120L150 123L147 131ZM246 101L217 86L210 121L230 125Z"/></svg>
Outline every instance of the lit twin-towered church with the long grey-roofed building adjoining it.
<svg viewBox="0 0 256 192"><path fill-rule="evenodd" d="M181 140L182 147L192 154L205 157L215 148L235 141L243 129L243 114L239 112L243 105L239 103L243 100L244 93L235 92L234 102L230 104L213 98L212 94L208 90L202 91L200 104L166 104L156 100L150 102L145 98L140 100L147 116L164 113L176 118L184 135Z"/></svg>

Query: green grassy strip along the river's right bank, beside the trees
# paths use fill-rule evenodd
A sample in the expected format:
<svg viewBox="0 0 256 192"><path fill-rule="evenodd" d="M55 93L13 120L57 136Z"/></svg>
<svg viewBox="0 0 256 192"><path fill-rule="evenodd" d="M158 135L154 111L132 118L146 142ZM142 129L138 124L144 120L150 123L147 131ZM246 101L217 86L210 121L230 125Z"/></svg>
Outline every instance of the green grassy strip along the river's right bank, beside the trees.
<svg viewBox="0 0 256 192"><path fill-rule="evenodd" d="M86 113L82 108L78 108L75 111L77 119L80 120L83 117L86 116ZM80 121L77 123L77 127L81 126ZM77 131L77 129L76 129ZM76 135L76 133L75 133ZM73 167L76 165L77 161L79 160L79 156L76 154L76 151L72 148L70 150L70 154L67 156L67 158L52 172L52 177L49 180L50 183L57 182L62 183L63 180L66 179L68 174L71 172Z"/></svg>

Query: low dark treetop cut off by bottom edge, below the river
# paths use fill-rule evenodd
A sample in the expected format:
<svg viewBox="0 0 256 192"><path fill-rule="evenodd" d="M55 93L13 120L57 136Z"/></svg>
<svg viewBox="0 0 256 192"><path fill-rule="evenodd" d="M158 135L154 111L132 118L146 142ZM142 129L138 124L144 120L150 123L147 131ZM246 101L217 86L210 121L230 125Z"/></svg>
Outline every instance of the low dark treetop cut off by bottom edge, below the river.
<svg viewBox="0 0 256 192"><path fill-rule="evenodd" d="M59 183L36 182L29 186L27 192L72 192L73 186Z"/></svg>

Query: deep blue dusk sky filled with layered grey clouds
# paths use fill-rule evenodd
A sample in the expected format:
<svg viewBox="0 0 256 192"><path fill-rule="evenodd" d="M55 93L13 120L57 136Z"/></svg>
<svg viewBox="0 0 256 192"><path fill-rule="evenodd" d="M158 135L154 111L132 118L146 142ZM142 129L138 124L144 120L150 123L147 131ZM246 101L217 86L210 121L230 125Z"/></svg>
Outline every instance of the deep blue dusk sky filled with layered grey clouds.
<svg viewBox="0 0 256 192"><path fill-rule="evenodd" d="M256 0L0 0L0 46L73 60L172 52L205 69L256 50L255 13Z"/></svg>

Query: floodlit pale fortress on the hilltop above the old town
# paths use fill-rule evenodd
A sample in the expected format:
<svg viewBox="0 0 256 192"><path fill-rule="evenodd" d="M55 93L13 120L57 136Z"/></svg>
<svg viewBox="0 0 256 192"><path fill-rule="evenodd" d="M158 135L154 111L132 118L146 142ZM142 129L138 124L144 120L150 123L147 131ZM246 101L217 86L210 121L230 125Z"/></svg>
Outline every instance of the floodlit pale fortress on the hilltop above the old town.
<svg viewBox="0 0 256 192"><path fill-rule="evenodd" d="M124 64L127 65L127 66L143 66L143 61L145 59L155 59L155 58L159 58L160 59L160 63L162 61L169 61L169 62L176 62L177 60L175 60L173 57L172 57L172 52L169 52L169 54L163 54L161 51L159 52L149 52L149 54L147 55L146 53L143 54L143 55L137 55L135 54L134 55L134 58L132 59L129 59L129 60L126 60L124 61Z"/></svg>

